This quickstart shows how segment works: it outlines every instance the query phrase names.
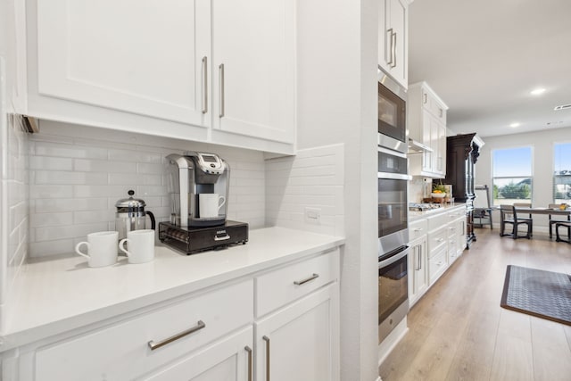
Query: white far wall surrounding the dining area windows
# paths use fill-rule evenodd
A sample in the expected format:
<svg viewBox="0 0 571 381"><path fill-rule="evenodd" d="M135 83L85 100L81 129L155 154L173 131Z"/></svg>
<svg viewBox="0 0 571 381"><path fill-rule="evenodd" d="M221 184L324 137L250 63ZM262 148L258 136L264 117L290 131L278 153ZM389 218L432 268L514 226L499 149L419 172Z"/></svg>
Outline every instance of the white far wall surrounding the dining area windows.
<svg viewBox="0 0 571 381"><path fill-rule="evenodd" d="M476 184L492 187L492 151L497 149L531 146L533 154L533 200L536 207L553 203L553 145L571 143L571 128L552 128L538 132L483 137L484 147L476 162ZM494 211L494 225L499 226L499 212ZM534 215L534 232L547 232L547 216Z"/></svg>

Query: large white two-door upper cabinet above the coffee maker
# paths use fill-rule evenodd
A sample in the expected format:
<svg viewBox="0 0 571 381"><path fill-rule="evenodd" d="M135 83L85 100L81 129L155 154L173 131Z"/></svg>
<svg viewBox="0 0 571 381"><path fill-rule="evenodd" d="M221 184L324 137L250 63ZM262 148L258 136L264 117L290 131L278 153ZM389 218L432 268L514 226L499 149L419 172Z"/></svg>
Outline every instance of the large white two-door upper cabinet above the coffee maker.
<svg viewBox="0 0 571 381"><path fill-rule="evenodd" d="M286 0L29 0L39 119L294 153Z"/></svg>

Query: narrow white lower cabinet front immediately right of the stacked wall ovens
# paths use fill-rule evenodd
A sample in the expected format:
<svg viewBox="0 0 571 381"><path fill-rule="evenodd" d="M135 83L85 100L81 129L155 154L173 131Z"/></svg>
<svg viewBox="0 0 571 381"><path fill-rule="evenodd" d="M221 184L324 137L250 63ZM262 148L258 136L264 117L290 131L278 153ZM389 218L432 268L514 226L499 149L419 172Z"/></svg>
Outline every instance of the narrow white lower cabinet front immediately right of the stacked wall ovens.
<svg viewBox="0 0 571 381"><path fill-rule="evenodd" d="M410 307L428 289L428 252L426 235L410 242L409 254L409 304Z"/></svg>

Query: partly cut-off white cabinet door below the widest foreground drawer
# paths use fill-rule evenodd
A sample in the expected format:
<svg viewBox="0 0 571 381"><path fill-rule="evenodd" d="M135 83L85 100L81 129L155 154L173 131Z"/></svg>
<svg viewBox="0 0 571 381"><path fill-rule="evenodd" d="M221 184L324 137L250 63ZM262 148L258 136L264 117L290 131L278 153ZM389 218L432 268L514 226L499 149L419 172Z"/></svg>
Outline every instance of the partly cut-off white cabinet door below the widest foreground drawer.
<svg viewBox="0 0 571 381"><path fill-rule="evenodd" d="M252 327L176 361L152 376L149 381L252 381Z"/></svg>

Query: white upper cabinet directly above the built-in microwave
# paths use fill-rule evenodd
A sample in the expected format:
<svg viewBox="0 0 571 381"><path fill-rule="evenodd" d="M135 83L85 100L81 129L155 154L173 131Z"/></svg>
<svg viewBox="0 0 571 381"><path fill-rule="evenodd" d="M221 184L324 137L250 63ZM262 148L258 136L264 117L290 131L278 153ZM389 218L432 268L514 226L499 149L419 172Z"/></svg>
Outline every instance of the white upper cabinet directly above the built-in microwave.
<svg viewBox="0 0 571 381"><path fill-rule="evenodd" d="M378 64L408 87L409 0L381 0L378 17Z"/></svg>

